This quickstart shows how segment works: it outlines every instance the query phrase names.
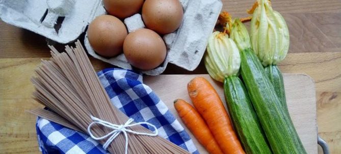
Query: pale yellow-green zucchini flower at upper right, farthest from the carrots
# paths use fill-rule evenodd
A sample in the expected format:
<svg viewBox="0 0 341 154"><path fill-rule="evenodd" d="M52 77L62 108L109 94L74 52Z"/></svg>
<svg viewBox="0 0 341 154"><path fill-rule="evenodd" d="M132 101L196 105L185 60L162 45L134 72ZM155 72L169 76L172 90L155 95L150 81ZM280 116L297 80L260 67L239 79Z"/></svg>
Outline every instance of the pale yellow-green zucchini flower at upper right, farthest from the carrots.
<svg viewBox="0 0 341 154"><path fill-rule="evenodd" d="M263 66L276 65L289 49L289 31L284 18L272 10L270 1L257 0L249 13L251 45Z"/></svg>

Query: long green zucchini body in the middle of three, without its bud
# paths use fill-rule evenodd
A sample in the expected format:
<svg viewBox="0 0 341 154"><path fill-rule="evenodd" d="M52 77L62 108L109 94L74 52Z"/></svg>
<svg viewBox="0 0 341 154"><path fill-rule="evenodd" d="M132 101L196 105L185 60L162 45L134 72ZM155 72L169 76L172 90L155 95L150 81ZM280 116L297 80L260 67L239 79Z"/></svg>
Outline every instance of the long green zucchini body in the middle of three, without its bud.
<svg viewBox="0 0 341 154"><path fill-rule="evenodd" d="M274 153L306 153L287 110L251 49L241 52L241 75Z"/></svg>

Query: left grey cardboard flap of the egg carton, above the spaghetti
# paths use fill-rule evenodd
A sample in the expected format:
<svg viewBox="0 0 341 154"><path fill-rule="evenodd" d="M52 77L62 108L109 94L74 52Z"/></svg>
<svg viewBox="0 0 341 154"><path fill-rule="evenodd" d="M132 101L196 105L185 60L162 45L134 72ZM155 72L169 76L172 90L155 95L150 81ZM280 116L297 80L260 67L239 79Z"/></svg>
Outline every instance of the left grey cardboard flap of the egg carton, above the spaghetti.
<svg viewBox="0 0 341 154"><path fill-rule="evenodd" d="M63 44L104 13L101 0L0 0L3 21Z"/></svg>

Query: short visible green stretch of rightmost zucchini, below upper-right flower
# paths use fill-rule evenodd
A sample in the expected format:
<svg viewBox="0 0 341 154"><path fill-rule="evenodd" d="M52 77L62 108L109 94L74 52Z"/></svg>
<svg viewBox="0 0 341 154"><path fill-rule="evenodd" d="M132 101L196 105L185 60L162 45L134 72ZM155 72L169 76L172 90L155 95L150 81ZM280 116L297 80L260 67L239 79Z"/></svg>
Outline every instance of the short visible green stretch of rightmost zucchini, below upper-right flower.
<svg viewBox="0 0 341 154"><path fill-rule="evenodd" d="M282 73L279 71L277 65L269 65L265 67L264 69L272 85L275 88L275 92L278 98L281 100L281 104L283 108L287 110Z"/></svg>

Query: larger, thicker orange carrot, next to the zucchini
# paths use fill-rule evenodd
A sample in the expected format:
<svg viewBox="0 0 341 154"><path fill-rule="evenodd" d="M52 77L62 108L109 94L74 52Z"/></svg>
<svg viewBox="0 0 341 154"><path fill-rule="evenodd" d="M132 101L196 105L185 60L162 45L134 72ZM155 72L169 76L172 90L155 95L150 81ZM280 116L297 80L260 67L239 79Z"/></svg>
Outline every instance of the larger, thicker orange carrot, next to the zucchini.
<svg viewBox="0 0 341 154"><path fill-rule="evenodd" d="M196 77L187 86L194 107L206 121L208 128L224 153L245 153L233 131L231 120L217 94L205 78Z"/></svg>

